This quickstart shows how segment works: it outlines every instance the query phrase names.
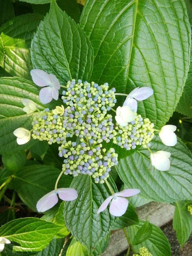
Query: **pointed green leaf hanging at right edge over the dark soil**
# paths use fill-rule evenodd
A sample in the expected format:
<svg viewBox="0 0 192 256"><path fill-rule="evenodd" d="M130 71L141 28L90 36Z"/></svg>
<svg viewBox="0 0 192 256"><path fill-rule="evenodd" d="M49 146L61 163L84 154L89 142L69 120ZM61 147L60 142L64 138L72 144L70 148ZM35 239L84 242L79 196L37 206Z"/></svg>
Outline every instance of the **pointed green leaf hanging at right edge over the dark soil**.
<svg viewBox="0 0 192 256"><path fill-rule="evenodd" d="M175 203L173 228L176 230L177 240L182 247L189 239L192 232L192 216L187 210L185 201Z"/></svg>

